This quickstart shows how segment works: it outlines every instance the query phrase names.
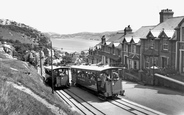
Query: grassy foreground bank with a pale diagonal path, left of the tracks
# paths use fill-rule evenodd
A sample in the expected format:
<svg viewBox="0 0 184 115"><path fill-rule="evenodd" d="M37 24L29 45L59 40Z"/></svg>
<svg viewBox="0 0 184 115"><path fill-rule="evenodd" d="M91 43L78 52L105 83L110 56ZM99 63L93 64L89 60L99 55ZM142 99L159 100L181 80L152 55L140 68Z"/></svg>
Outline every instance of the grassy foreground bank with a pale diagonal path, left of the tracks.
<svg viewBox="0 0 184 115"><path fill-rule="evenodd" d="M52 94L26 62L1 56L0 73L0 115L78 115Z"/></svg>

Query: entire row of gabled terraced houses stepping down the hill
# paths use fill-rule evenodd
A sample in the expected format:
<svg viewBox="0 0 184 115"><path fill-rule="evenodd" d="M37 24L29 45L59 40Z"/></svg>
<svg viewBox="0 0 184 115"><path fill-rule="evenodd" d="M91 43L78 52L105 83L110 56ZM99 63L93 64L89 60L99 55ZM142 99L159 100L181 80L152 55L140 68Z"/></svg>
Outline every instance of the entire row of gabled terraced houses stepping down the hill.
<svg viewBox="0 0 184 115"><path fill-rule="evenodd" d="M169 67L184 73L184 16L173 17L170 9L159 14L158 25L142 26L135 32L128 26L107 41L103 36L93 49L98 50L96 62L136 70Z"/></svg>

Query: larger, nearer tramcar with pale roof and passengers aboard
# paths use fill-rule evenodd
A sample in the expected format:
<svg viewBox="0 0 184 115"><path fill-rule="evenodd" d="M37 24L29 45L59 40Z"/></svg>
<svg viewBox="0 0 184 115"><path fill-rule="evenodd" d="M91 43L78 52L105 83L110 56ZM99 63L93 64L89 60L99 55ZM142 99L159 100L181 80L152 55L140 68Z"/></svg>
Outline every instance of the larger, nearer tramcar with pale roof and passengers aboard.
<svg viewBox="0 0 184 115"><path fill-rule="evenodd" d="M102 99L124 95L121 67L71 66L72 83L97 92Z"/></svg>

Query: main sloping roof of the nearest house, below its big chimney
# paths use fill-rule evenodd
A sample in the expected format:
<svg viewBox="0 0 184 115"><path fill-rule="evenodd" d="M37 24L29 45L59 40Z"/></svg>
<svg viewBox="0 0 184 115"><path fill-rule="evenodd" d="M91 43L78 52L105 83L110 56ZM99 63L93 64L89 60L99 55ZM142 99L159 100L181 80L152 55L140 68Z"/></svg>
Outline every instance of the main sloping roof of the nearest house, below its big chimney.
<svg viewBox="0 0 184 115"><path fill-rule="evenodd" d="M164 22L158 24L153 28L153 30L174 30L180 22L183 20L184 16L179 16L179 17L172 17Z"/></svg>

